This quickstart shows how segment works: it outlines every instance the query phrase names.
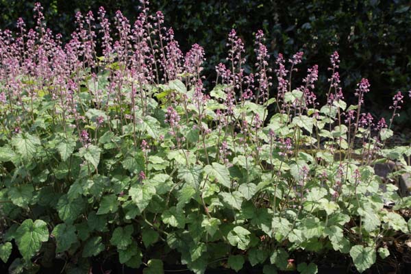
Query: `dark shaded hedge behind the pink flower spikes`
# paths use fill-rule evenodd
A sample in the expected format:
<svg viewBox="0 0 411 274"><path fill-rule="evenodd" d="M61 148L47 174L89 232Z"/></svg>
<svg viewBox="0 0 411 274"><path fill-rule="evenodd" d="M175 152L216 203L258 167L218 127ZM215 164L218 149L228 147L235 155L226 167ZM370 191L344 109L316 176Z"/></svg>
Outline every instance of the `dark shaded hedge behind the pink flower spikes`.
<svg viewBox="0 0 411 274"><path fill-rule="evenodd" d="M138 0L44 0L47 25L69 38L75 29L75 11L97 12L103 5L108 14L121 10L134 21ZM0 28L14 29L21 16L33 26L34 1L0 0ZM197 42L206 49L206 72L211 75L226 57L226 38L235 28L245 40L248 64L253 64L253 36L258 29L266 33L266 44L272 55L286 57L304 51L301 75L307 66L319 64L321 84L316 86L320 99L327 91L329 55L340 53L340 75L346 99L354 100L356 83L367 77L371 92L366 95L366 108L375 116L388 116L388 106L395 92L408 97L411 88L411 1L151 1L151 10L162 10L167 26L188 51ZM96 16L97 17L97 16ZM246 71L252 71L246 67ZM409 99L408 99L409 100ZM407 101L408 101L407 100ZM406 102L406 103L409 103ZM403 108L397 124L410 128L411 108Z"/></svg>

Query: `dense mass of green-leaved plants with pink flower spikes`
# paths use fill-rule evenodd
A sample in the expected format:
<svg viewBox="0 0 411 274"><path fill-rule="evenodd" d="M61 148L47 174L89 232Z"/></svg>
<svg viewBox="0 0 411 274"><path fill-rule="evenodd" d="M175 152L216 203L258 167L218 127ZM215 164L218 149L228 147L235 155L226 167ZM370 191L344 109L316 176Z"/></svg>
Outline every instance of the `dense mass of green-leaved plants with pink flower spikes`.
<svg viewBox="0 0 411 274"><path fill-rule="evenodd" d="M302 52L269 68L258 31L245 73L234 30L205 90L203 49L184 55L146 1L133 25L77 13L66 44L40 4L34 14L34 29L0 32L0 258L21 254L13 273L53 258L67 273L95 258L147 274L165 263L316 273L333 252L363 272L410 251L411 198L373 170L392 160L390 179L410 172L411 148L385 147L407 92L389 121L361 112L367 79L347 105L335 52L320 105L321 68L295 79Z"/></svg>

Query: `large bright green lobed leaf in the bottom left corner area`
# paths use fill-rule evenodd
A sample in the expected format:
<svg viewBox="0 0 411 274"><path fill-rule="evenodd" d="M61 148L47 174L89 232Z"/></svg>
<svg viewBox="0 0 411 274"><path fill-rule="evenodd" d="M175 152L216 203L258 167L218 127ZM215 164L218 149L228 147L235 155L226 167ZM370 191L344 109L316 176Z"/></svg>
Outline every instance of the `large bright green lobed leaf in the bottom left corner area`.
<svg viewBox="0 0 411 274"><path fill-rule="evenodd" d="M42 242L49 240L47 223L42 220L27 219L16 230L16 243L21 256L30 260L40 250Z"/></svg>

